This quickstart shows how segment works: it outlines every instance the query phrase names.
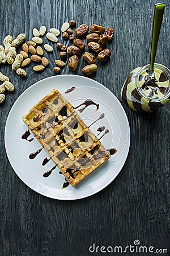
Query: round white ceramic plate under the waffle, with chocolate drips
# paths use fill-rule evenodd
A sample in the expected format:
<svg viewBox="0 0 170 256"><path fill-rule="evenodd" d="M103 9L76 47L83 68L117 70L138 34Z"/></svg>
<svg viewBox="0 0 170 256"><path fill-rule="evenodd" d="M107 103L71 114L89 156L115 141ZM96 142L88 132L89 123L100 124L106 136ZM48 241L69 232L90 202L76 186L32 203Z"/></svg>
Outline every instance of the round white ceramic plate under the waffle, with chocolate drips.
<svg viewBox="0 0 170 256"><path fill-rule="evenodd" d="M75 86L73 92L65 94L65 91L72 86ZM115 147L118 150L115 155L104 164L101 164L100 167L78 185L75 187L69 185L65 189L62 189L64 177L59 174L58 168L49 177L42 176L44 172L54 166L52 160L45 166L42 166L42 160L47 156L45 150L42 150L33 160L28 158L31 152L41 148L36 138L32 142L21 138L22 134L27 130L22 116L28 113L33 105L54 88L59 89L73 106L79 105L87 98L99 104L99 110L96 111L96 107L91 105L84 112L79 113L79 115L87 125L90 125L101 113L104 113L105 117L91 126L91 130L94 134L97 134L96 129L104 125L106 129L109 129L109 133L104 135L100 140L101 143L103 143L105 148ZM33 136L31 135L29 138L31 137ZM129 123L122 105L105 86L83 76L53 76L36 82L16 100L8 114L5 127L6 152L16 174L28 187L41 195L53 199L81 199L105 188L114 180L124 166L129 152L129 145Z"/></svg>

